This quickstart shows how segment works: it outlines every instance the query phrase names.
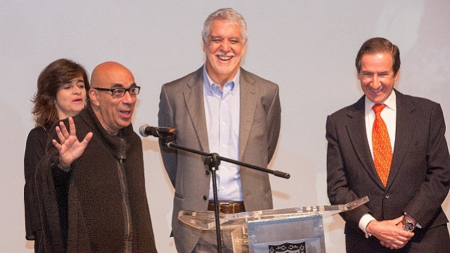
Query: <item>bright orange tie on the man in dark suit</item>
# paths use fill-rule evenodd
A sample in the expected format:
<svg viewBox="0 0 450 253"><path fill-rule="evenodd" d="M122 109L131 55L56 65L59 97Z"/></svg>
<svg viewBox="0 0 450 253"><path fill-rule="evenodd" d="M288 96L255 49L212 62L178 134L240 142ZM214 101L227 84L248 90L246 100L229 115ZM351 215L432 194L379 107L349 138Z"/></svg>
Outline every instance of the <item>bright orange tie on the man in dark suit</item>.
<svg viewBox="0 0 450 253"><path fill-rule="evenodd" d="M385 104L376 104L372 107L375 112L375 122L373 122L372 129L372 145L375 169L377 169L383 186L386 187L392 162L392 148L385 121L380 115L385 106Z"/></svg>

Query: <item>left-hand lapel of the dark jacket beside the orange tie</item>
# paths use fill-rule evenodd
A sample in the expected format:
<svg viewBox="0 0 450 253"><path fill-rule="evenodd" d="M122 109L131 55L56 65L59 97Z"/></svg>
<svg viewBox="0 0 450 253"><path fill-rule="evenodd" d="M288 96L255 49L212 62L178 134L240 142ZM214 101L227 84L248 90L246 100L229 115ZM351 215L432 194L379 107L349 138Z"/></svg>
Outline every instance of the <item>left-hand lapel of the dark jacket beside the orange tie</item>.
<svg viewBox="0 0 450 253"><path fill-rule="evenodd" d="M358 102L354 103L352 109L347 113L347 116L350 118L349 123L347 124L347 131L355 153L364 165L364 169L366 169L367 173L379 186L384 188L380 176L378 176L378 172L375 169L375 164L373 163L371 148L368 146L366 120L364 119L364 98L365 96L362 96ZM361 122L363 124L361 124Z"/></svg>

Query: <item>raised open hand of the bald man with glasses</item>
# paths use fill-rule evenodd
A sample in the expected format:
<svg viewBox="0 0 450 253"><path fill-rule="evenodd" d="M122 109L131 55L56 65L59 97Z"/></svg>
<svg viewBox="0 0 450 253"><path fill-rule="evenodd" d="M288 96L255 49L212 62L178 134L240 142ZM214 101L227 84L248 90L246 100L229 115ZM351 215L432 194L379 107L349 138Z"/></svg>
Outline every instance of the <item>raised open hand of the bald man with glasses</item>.
<svg viewBox="0 0 450 253"><path fill-rule="evenodd" d="M52 143L55 148L58 149L60 165L68 167L75 159L84 153L87 144L91 141L92 132L86 134L84 140L79 142L75 135L77 132L72 117L69 117L70 133L68 129L65 128L63 122L59 122L59 126L56 126L55 129L60 143L55 139L52 140Z"/></svg>

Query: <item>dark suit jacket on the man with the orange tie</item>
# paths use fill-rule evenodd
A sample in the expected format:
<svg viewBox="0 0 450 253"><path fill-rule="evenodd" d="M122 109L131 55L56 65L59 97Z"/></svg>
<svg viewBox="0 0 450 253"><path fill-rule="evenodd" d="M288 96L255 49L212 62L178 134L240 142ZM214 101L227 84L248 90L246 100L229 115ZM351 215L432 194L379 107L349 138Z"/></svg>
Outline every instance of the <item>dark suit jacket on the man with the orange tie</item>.
<svg viewBox="0 0 450 253"><path fill-rule="evenodd" d="M358 228L359 220L365 213L383 221L407 212L423 226L416 234L426 233L428 229L448 222L441 207L449 193L450 183L450 156L444 136L442 108L430 100L395 92L397 128L386 188L375 170L367 141L365 96L328 116L326 138L330 203L344 204L366 195L369 197L366 205L341 213L346 221L346 237L352 234L366 240ZM428 239L431 240L421 239L419 242L449 240L448 233L446 239ZM352 252L352 247L347 244L347 251Z"/></svg>

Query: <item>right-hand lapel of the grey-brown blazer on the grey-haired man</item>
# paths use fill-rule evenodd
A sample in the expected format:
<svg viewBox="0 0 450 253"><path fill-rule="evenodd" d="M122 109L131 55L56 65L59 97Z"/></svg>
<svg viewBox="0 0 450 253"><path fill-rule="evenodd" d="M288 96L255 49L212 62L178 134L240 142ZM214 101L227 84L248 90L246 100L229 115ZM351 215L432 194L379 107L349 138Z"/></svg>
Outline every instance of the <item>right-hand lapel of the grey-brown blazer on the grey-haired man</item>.
<svg viewBox="0 0 450 253"><path fill-rule="evenodd" d="M248 72L240 68L239 159L242 159L255 115L257 91L254 84L255 80Z"/></svg>

